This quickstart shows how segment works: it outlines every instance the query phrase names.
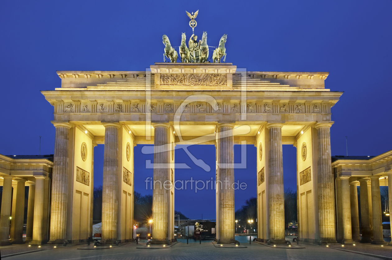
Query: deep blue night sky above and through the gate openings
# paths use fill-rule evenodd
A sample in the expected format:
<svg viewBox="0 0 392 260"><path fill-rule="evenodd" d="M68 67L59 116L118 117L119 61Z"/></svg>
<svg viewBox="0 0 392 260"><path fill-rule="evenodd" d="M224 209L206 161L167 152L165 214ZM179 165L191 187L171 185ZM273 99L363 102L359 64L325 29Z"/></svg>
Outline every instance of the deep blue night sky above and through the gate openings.
<svg viewBox="0 0 392 260"><path fill-rule="evenodd" d="M392 149L390 71L392 1L3 1L0 8L0 153L54 150L53 107L40 90L60 87L56 70L145 70L163 61L162 34L179 46L192 34L185 10L200 9L195 33L207 31L217 46L227 33L226 62L248 71L330 72L326 88L344 91L332 108L332 155L378 155ZM388 76L389 75L389 76ZM389 79L388 79L389 78ZM135 148L135 191L152 177L142 146ZM194 165L182 149L176 179L215 175L214 146L189 150L211 166ZM296 148L283 145L284 185L296 189ZM236 162L240 146L234 146ZM94 150L94 185L102 184L103 145ZM256 148L247 147L247 168L235 171L246 190L235 207L256 196ZM176 210L190 218L215 218L213 190L176 191Z"/></svg>

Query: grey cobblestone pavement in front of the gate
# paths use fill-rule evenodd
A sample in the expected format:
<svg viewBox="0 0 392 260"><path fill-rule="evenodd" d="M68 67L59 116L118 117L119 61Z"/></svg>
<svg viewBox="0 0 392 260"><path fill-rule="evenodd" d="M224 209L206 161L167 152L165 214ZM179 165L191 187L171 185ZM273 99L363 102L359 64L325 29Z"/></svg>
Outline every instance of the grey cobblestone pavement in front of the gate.
<svg viewBox="0 0 392 260"><path fill-rule="evenodd" d="M245 244L244 244L245 245ZM301 245L301 243L300 243ZM181 242L168 249L136 249L136 244L103 250L78 250L78 246L58 247L53 250L40 251L25 255L10 256L5 259L29 260L229 260L229 259L276 259L276 260L372 260L379 259L354 253L339 251L327 247L303 244L306 249L277 249L259 244L247 244L247 248L215 248L211 241L200 244Z"/></svg>

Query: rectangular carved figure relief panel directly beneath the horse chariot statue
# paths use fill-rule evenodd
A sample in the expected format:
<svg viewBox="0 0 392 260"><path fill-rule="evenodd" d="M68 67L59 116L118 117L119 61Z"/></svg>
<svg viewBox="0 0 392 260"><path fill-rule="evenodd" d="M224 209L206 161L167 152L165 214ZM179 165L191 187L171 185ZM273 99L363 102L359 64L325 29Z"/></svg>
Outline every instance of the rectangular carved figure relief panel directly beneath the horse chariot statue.
<svg viewBox="0 0 392 260"><path fill-rule="evenodd" d="M161 74L161 86L227 86L226 74Z"/></svg>

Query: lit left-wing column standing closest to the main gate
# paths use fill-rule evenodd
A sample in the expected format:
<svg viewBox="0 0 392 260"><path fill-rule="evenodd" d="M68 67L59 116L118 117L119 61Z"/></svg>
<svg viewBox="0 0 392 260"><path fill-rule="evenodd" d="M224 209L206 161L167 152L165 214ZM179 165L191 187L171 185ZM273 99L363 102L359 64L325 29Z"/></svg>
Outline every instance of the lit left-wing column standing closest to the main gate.
<svg viewBox="0 0 392 260"><path fill-rule="evenodd" d="M33 224L33 240L30 245L42 244L44 227L44 191L45 191L45 176L35 177L35 199L34 199L34 224Z"/></svg>

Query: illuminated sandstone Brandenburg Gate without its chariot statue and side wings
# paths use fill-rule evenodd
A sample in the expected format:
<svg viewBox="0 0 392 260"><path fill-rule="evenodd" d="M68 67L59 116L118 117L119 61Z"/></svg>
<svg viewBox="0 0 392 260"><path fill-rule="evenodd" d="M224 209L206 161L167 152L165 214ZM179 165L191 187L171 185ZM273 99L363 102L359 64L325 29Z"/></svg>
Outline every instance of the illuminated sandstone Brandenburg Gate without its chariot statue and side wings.
<svg viewBox="0 0 392 260"><path fill-rule="evenodd" d="M56 127L49 243L91 236L97 144L105 144L102 243L133 238L137 144L154 144L152 243L175 239L176 144L216 146L218 243L234 242L234 144L257 147L260 240L285 243L282 144L292 144L298 214L306 215L298 218L301 238L336 241L330 127L342 92L325 88L328 72L237 71L232 63L204 62L57 74L61 88L42 91Z"/></svg>

